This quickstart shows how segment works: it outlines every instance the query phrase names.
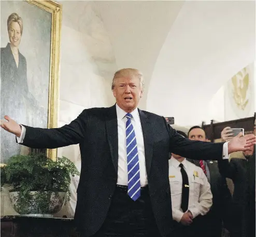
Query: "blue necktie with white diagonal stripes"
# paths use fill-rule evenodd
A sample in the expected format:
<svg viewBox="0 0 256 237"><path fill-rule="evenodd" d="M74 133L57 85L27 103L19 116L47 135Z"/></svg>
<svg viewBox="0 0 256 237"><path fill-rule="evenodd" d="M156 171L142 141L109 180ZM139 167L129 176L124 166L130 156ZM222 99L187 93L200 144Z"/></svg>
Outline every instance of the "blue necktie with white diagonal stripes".
<svg viewBox="0 0 256 237"><path fill-rule="evenodd" d="M135 131L132 124L132 115L126 114L126 152L128 171L128 195L136 201L140 196L139 156Z"/></svg>

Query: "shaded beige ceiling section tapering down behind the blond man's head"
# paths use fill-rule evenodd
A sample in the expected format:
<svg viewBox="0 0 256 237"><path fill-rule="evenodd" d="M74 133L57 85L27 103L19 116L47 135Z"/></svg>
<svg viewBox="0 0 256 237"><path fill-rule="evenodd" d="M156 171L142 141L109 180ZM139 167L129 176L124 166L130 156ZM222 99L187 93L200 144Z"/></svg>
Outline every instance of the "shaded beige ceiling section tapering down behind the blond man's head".
<svg viewBox="0 0 256 237"><path fill-rule="evenodd" d="M95 1L109 33L116 63L144 73L146 90L139 107L146 109L147 92L159 52L183 1Z"/></svg>

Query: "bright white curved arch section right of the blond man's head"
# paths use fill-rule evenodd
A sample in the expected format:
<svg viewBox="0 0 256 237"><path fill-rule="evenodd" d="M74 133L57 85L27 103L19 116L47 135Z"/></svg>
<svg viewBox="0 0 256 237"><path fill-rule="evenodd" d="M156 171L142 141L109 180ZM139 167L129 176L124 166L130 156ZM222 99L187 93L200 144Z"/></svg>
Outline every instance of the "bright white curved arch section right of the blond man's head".
<svg viewBox="0 0 256 237"><path fill-rule="evenodd" d="M254 1L188 1L155 64L147 110L201 123L212 96L254 59Z"/></svg>

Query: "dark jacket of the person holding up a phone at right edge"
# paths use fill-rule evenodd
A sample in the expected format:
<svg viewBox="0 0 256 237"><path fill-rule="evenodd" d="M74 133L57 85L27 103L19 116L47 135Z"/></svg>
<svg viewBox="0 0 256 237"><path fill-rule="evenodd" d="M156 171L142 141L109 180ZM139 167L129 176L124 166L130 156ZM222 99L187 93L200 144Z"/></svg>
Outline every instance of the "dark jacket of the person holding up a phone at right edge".
<svg viewBox="0 0 256 237"><path fill-rule="evenodd" d="M218 165L220 173L234 183L232 237L255 237L255 153L249 161L235 158Z"/></svg>

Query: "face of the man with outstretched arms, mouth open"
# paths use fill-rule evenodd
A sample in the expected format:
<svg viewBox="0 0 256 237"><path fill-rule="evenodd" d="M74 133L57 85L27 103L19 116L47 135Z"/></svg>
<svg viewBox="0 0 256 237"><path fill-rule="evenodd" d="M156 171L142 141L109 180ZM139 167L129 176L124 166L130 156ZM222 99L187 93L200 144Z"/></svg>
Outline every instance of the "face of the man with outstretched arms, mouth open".
<svg viewBox="0 0 256 237"><path fill-rule="evenodd" d="M118 106L126 113L131 113L142 97L142 88L137 77L119 77L113 88Z"/></svg>

